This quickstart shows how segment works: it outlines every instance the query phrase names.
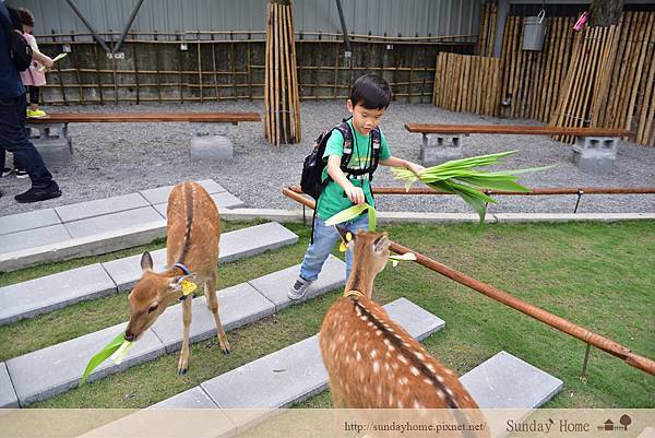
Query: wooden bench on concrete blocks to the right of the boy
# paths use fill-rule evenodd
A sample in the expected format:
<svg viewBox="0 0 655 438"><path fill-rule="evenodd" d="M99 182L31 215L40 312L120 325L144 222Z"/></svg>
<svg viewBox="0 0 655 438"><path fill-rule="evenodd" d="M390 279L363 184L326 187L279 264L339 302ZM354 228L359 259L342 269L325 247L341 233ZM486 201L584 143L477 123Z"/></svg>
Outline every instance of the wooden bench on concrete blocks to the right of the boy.
<svg viewBox="0 0 655 438"><path fill-rule="evenodd" d="M424 166L434 166L463 156L462 137L471 134L571 135L577 138L573 146L573 163L583 170L605 169L617 156L620 137L627 129L560 128L521 125L433 125L406 123L409 132L422 134L420 159Z"/></svg>

